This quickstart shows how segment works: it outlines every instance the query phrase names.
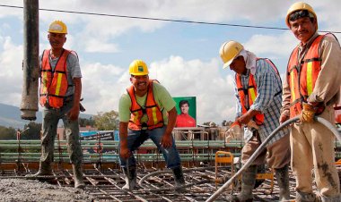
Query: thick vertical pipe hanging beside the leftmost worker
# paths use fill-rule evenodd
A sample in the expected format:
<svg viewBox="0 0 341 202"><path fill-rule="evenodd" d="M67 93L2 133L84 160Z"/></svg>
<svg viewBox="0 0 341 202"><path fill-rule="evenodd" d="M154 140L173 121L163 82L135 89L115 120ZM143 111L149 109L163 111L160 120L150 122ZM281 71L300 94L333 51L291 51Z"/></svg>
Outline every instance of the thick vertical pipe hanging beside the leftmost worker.
<svg viewBox="0 0 341 202"><path fill-rule="evenodd" d="M36 120L39 86L39 0L23 0L22 119Z"/></svg>

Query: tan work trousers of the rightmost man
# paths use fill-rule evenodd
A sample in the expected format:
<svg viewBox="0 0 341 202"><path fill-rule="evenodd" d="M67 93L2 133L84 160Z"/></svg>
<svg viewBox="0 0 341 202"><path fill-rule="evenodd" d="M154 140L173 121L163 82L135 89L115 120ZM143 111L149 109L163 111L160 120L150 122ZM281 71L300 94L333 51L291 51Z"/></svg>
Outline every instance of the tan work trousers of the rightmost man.
<svg viewBox="0 0 341 202"><path fill-rule="evenodd" d="M326 107L319 117L334 122L334 109ZM340 193L340 182L334 163L334 142L334 134L319 122L293 124L290 143L296 191L312 193L311 169L314 169L320 194L334 197Z"/></svg>

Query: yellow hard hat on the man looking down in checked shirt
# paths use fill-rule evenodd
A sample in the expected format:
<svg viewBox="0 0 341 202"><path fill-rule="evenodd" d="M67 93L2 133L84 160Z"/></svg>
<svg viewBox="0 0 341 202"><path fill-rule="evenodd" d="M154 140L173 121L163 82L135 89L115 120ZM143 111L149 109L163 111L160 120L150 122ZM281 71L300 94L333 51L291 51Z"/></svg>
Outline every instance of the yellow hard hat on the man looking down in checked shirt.
<svg viewBox="0 0 341 202"><path fill-rule="evenodd" d="M244 49L244 47L237 41L228 41L223 43L219 51L220 57L222 57L223 60L223 69L230 66L233 59L240 54L242 49Z"/></svg>

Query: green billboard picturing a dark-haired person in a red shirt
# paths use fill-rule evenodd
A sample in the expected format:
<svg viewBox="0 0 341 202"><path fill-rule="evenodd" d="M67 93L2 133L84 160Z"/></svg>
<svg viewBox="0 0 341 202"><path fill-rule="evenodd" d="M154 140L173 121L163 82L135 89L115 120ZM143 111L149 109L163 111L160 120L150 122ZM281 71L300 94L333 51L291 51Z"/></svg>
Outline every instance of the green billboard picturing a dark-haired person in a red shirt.
<svg viewBox="0 0 341 202"><path fill-rule="evenodd" d="M173 97L178 112L175 127L197 127L197 97Z"/></svg>

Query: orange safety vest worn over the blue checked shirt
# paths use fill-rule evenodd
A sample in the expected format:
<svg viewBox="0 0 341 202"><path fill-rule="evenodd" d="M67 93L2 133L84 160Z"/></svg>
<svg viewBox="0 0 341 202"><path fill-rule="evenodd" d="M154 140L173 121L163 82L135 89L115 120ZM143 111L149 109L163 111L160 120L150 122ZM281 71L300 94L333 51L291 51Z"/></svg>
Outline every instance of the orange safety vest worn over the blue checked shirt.
<svg viewBox="0 0 341 202"><path fill-rule="evenodd" d="M260 58L257 58L257 60L259 60L259 59ZM272 63L267 58L264 58L264 60L267 63L270 64L270 66L275 70L275 72L279 76L279 72L278 72L277 68L275 67L275 64ZM249 85L248 85L248 88L243 88L243 86L241 84L240 75L238 73L236 73L236 75L235 75L235 80L236 80L236 84L237 84L238 94L239 94L239 97L240 97L241 114L246 114L249 111L249 107L247 107L245 105L246 104L246 95L248 95L248 97L249 97L249 100L248 100L249 101L249 106L253 105L253 102L255 102L256 97L257 97L257 84L256 84L256 80L255 80L254 76L251 73L249 73ZM278 93L275 94L275 96L277 96L277 95L278 95ZM254 119L254 121L258 125L261 125L264 122L264 114L256 114L253 119Z"/></svg>

